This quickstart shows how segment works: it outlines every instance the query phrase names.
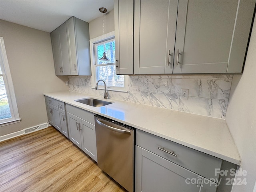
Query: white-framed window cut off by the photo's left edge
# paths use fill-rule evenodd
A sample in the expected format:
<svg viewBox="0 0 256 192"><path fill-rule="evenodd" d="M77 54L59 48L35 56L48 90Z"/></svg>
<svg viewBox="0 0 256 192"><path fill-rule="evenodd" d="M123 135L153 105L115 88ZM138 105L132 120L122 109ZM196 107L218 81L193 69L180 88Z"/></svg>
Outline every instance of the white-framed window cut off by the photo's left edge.
<svg viewBox="0 0 256 192"><path fill-rule="evenodd" d="M20 122L4 39L0 37L0 124Z"/></svg>

